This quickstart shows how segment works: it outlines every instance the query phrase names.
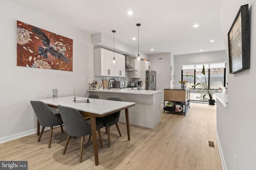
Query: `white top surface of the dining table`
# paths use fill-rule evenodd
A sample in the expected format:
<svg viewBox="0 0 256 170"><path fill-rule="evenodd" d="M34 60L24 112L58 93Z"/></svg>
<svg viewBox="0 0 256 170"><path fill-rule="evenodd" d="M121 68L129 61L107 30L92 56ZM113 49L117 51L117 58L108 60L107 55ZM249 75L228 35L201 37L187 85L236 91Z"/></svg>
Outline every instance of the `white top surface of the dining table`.
<svg viewBox="0 0 256 170"><path fill-rule="evenodd" d="M82 98L82 97L76 97L76 98ZM133 102L119 102L119 101L113 101L113 100L102 100L102 99L93 99L93 98L89 98L90 103L73 102L73 100L74 100L74 96L66 96L66 97L60 97L60 98L38 99L36 101L42 101L46 104L50 104L53 106L63 105L63 106L73 107L80 111L86 111L89 113L96 113L100 115L109 113L116 109L121 109L127 106L135 105L135 103Z"/></svg>

